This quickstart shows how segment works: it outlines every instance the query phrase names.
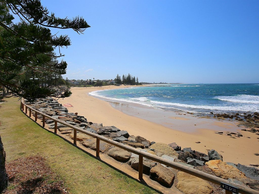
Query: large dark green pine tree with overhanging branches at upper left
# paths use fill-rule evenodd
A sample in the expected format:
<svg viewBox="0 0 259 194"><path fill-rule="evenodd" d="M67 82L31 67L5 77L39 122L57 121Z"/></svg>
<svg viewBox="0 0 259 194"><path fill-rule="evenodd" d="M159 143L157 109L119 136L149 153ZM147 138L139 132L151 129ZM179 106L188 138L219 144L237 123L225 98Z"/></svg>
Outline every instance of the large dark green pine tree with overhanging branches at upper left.
<svg viewBox="0 0 259 194"><path fill-rule="evenodd" d="M19 23L13 23L16 14ZM90 27L81 17L73 20L56 17L49 14L40 0L1 0L0 1L0 85L10 89L16 96L23 97L29 102L37 98L54 96L56 92L50 85L40 87L35 78L47 81L46 74L52 72L57 75L65 74L65 61L51 61L62 57L60 48L71 45L67 35L52 34L50 28L71 28L78 34ZM51 54L55 48L58 55ZM45 75L44 75L45 74ZM20 79L20 77L26 79ZM42 80L41 80L42 82ZM67 89L58 96L70 96Z"/></svg>

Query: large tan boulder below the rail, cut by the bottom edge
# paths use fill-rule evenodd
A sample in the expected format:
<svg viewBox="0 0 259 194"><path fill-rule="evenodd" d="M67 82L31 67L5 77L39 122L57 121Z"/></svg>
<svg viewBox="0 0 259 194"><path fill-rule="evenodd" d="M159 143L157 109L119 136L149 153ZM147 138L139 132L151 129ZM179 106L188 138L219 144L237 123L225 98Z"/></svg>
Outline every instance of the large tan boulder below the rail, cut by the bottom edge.
<svg viewBox="0 0 259 194"><path fill-rule="evenodd" d="M209 194L213 192L210 184L196 176L179 171L177 178L176 188L185 194Z"/></svg>

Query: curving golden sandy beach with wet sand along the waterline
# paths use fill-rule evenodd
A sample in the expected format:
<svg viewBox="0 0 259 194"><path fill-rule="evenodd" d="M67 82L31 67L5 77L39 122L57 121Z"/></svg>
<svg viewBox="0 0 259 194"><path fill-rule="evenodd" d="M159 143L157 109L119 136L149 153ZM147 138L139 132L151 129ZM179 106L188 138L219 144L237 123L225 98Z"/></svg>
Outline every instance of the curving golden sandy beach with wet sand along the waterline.
<svg viewBox="0 0 259 194"><path fill-rule="evenodd" d="M225 162L243 165L259 163L259 156L254 155L259 153L259 136L249 131L241 131L244 128L237 127L234 122L179 115L176 112L144 106L111 103L88 94L96 90L124 87L132 86L73 87L70 97L58 101L62 104L72 104L73 107L68 108L69 112L77 112L88 121L103 123L103 126L114 125L128 131L130 135L139 135L150 141L167 144L176 142L182 148L191 147L192 150L203 153L214 149L223 156ZM215 131L240 132L243 137L233 139L225 133L215 134Z"/></svg>

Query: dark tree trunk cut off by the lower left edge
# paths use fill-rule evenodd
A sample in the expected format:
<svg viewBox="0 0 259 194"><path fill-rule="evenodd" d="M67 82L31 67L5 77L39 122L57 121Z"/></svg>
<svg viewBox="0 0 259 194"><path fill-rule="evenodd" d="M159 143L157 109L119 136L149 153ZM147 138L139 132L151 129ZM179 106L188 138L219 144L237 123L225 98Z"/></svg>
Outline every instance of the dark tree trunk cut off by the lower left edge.
<svg viewBox="0 0 259 194"><path fill-rule="evenodd" d="M6 188L7 186L7 174L5 170L5 151L4 145L2 143L2 139L0 136L0 193Z"/></svg>

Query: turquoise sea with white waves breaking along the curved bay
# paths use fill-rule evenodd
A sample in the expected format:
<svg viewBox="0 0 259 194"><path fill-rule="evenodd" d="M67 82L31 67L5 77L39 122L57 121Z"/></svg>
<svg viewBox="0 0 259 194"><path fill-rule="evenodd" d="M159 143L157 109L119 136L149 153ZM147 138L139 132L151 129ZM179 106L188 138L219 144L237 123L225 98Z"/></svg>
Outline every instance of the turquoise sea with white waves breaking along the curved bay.
<svg viewBox="0 0 259 194"><path fill-rule="evenodd" d="M259 84L166 84L94 91L94 96L195 113L259 112Z"/></svg>

